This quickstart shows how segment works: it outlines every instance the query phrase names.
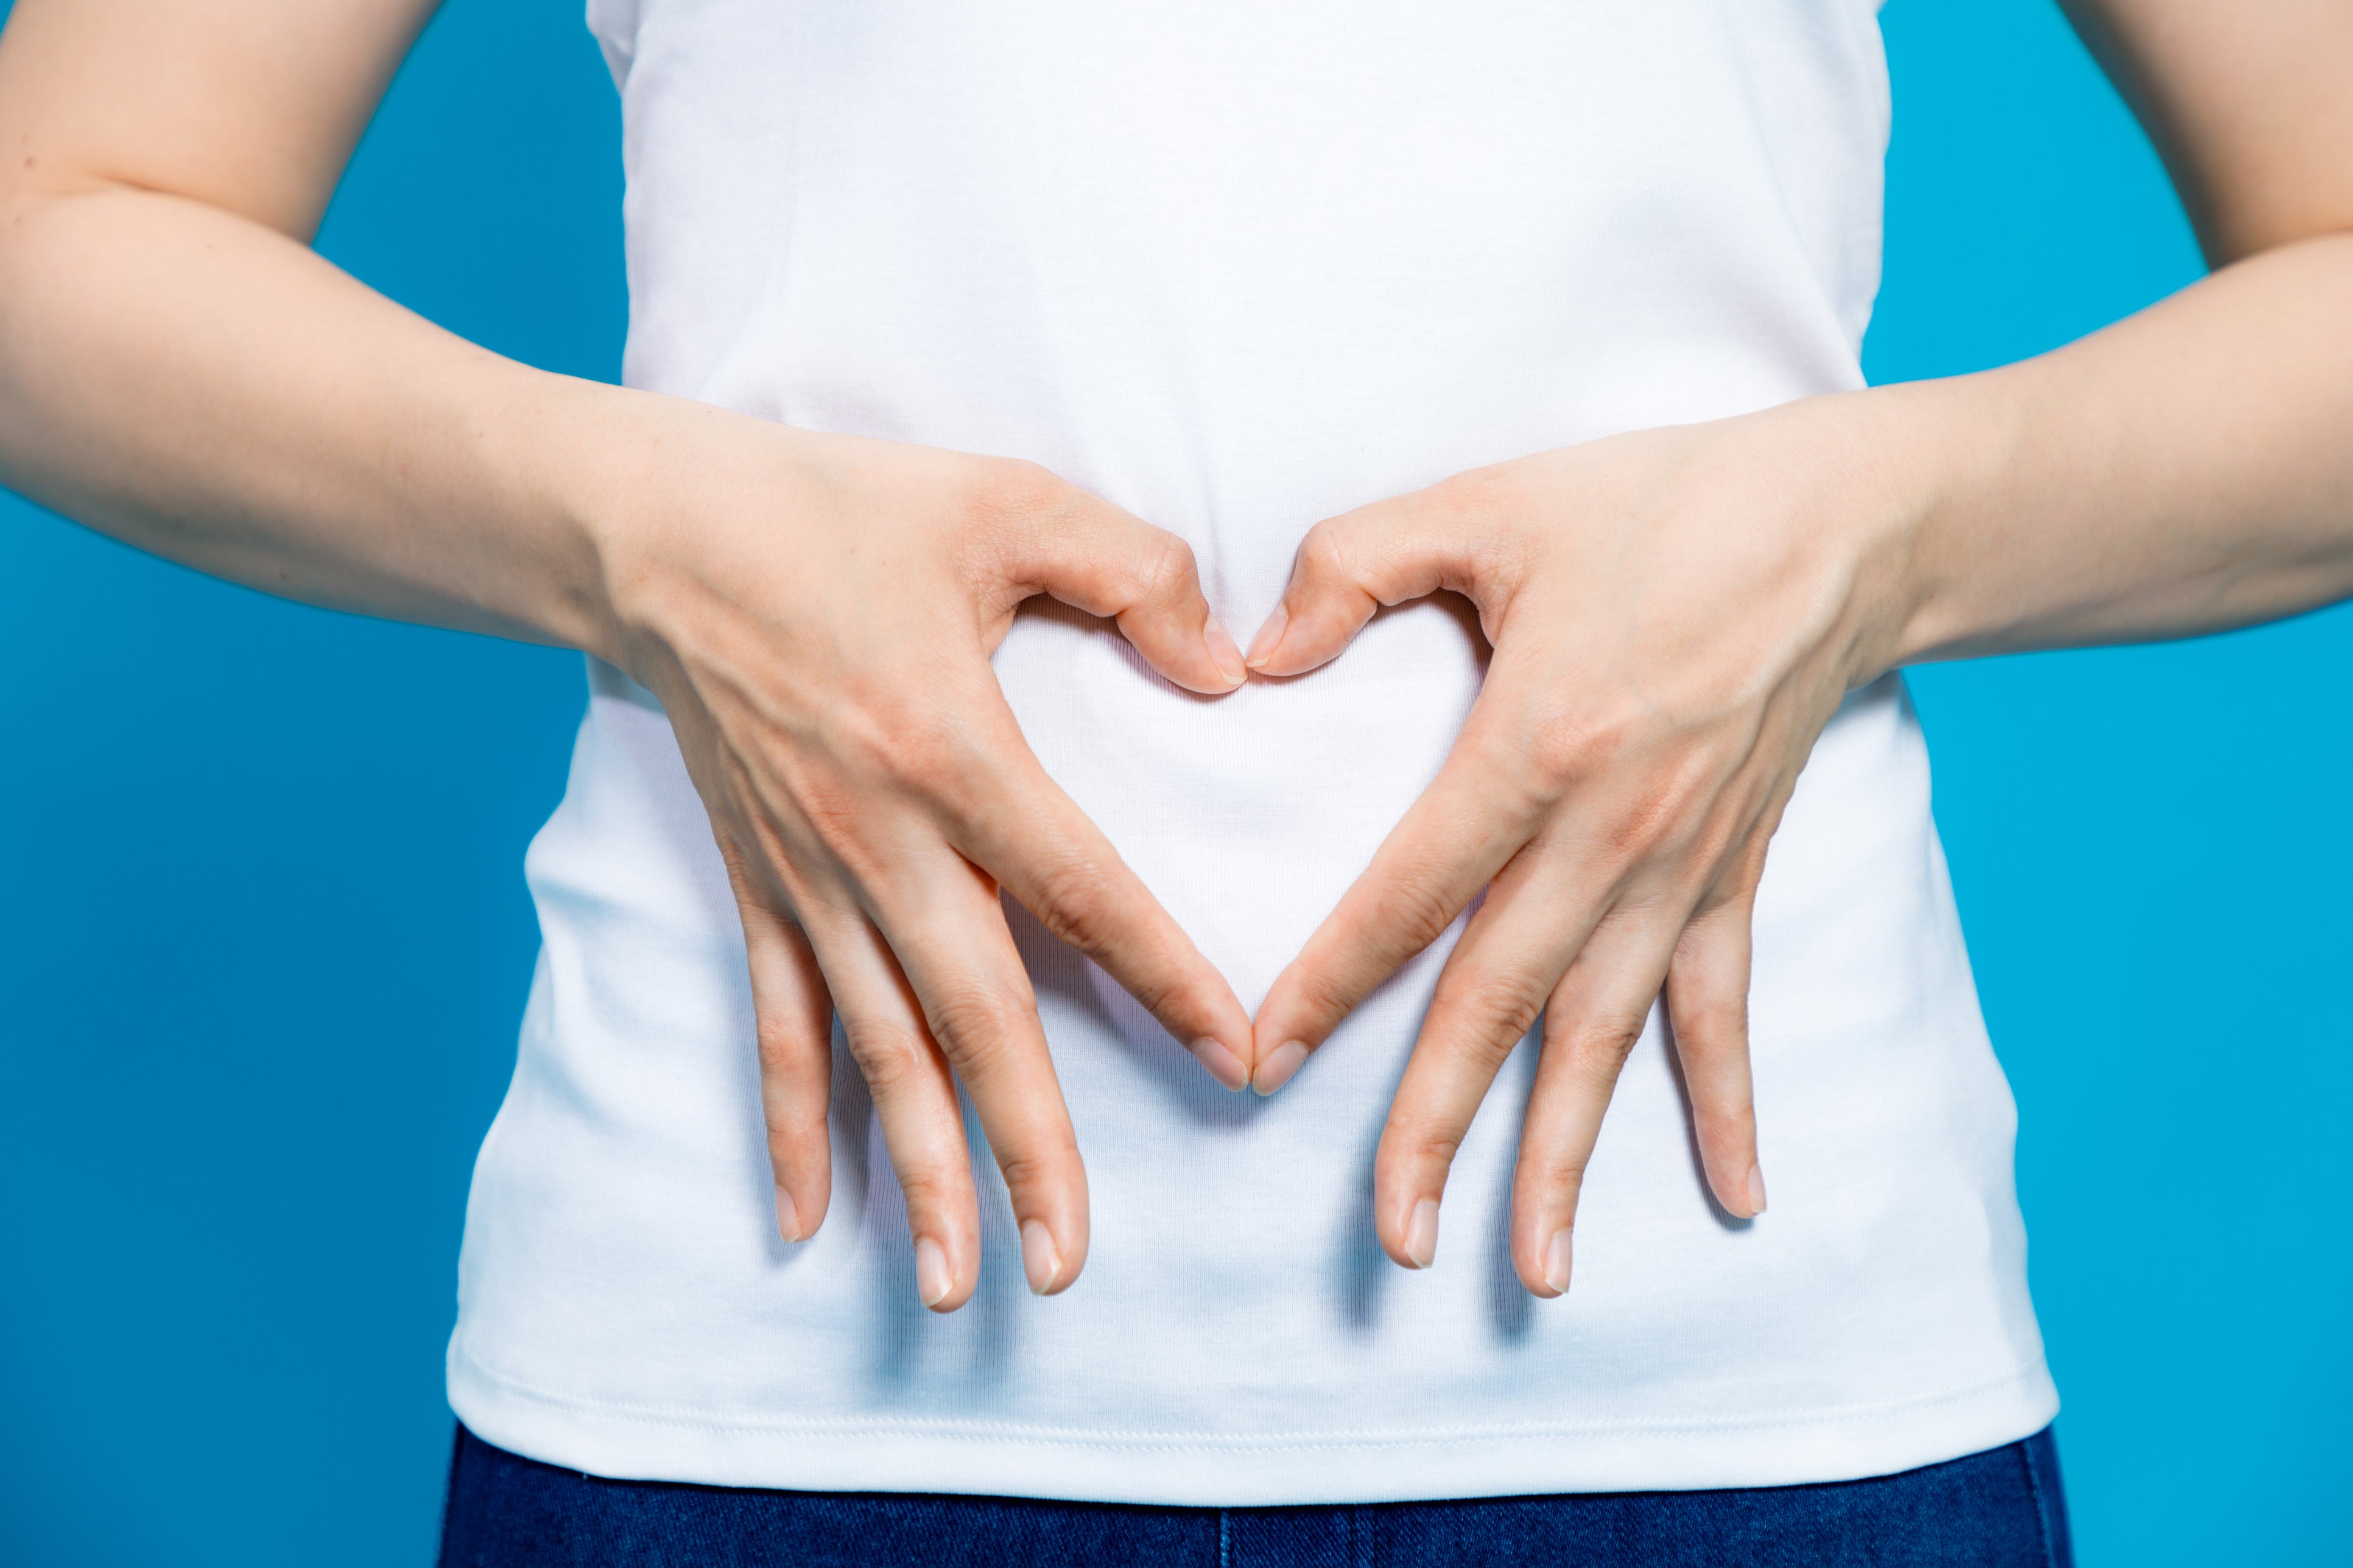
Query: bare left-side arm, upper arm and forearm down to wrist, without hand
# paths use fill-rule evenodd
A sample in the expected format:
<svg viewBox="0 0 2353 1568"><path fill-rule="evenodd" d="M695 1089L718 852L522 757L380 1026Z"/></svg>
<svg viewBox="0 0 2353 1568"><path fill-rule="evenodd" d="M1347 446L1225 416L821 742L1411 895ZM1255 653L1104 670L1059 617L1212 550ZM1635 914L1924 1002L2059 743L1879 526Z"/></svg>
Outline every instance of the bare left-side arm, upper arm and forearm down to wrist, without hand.
<svg viewBox="0 0 2353 1568"><path fill-rule="evenodd" d="M271 592L614 654L558 482L609 388L308 240L426 0L28 0L0 35L0 475Z"/></svg>

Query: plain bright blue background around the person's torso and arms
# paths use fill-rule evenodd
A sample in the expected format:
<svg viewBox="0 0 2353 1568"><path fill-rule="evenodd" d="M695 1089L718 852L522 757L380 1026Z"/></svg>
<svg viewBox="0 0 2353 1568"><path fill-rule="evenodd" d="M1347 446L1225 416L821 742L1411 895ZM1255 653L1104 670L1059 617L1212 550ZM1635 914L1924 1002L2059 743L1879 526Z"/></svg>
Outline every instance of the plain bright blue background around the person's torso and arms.
<svg viewBox="0 0 2353 1568"><path fill-rule="evenodd" d="M2047 5L1894 0L1875 381L2200 270ZM614 376L576 0L452 0L322 249ZM579 661L264 599L0 494L0 1561L431 1561L466 1178ZM2021 1105L2089 1568L2353 1552L2353 611L1915 672Z"/></svg>

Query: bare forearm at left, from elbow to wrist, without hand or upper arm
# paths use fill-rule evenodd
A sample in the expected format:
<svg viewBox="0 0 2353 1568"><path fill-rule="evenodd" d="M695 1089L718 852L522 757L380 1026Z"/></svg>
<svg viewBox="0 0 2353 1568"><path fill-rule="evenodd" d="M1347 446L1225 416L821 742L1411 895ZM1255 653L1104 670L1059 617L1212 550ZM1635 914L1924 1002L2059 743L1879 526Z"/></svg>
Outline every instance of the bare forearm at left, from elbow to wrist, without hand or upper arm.
<svg viewBox="0 0 2353 1568"><path fill-rule="evenodd" d="M616 388L501 360L195 200L7 193L0 480L169 559L602 646L574 501Z"/></svg>

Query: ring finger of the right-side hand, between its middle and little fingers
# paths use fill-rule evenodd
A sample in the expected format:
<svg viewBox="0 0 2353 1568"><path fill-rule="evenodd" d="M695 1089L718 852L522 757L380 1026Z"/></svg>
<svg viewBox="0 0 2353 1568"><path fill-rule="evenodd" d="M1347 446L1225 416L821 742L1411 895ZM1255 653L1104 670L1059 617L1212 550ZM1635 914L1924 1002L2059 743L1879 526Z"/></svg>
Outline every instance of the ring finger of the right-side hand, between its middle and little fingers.
<svg viewBox="0 0 2353 1568"><path fill-rule="evenodd" d="M1534 1295L1562 1295L1574 1260L1577 1197L1619 1072L1659 1001L1687 910L1612 914L1544 1006L1544 1056L1511 1185L1511 1265Z"/></svg>

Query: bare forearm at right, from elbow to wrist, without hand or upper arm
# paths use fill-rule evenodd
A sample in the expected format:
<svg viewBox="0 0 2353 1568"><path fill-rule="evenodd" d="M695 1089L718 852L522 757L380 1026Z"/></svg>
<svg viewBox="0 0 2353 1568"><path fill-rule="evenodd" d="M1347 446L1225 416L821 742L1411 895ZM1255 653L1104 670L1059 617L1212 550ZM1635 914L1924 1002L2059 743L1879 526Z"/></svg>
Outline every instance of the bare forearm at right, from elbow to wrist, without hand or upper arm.
<svg viewBox="0 0 2353 1568"><path fill-rule="evenodd" d="M2353 235L2268 249L2035 360L1859 397L1906 496L1873 665L2353 595Z"/></svg>

